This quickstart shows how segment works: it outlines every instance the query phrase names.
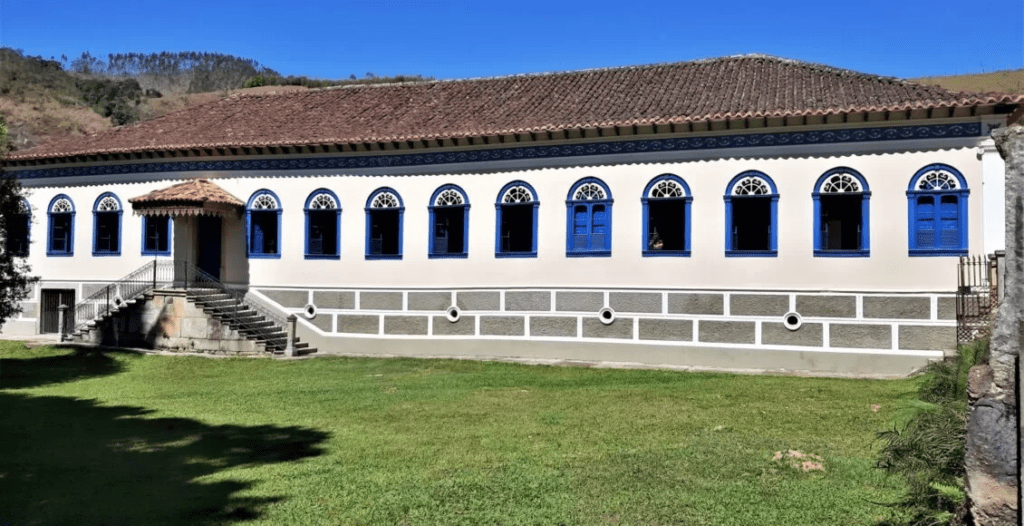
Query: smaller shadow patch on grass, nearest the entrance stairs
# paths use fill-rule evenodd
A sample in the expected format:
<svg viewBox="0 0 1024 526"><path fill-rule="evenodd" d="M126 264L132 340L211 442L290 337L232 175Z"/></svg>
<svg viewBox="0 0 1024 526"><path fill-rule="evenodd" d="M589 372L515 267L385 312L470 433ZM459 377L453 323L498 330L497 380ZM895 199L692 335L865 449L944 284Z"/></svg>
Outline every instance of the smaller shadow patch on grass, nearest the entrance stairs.
<svg viewBox="0 0 1024 526"><path fill-rule="evenodd" d="M124 365L112 357L113 353L131 353L71 347L56 347L56 349L73 352L0 359L0 389L25 389L116 375L121 372Z"/></svg>

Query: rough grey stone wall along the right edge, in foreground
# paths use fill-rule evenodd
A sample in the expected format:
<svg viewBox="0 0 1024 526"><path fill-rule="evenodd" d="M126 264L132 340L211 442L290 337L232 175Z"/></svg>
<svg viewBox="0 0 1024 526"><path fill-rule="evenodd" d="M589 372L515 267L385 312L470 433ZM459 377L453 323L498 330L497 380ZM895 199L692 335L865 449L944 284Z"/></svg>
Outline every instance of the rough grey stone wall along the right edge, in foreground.
<svg viewBox="0 0 1024 526"><path fill-rule="evenodd" d="M967 492L979 526L1020 521L1018 361L1024 339L1024 128L992 134L1007 162L1005 295L996 315L989 362L971 370Z"/></svg>

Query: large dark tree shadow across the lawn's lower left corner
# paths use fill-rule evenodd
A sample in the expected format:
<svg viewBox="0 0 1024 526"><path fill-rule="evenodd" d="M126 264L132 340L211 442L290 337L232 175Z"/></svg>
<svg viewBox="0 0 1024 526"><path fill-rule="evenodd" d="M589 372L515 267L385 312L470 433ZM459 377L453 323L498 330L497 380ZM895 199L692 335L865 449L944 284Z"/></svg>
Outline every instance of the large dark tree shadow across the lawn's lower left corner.
<svg viewBox="0 0 1024 526"><path fill-rule="evenodd" d="M0 525L229 524L281 496L201 477L318 455L328 434L146 419L142 407L0 392Z"/></svg>

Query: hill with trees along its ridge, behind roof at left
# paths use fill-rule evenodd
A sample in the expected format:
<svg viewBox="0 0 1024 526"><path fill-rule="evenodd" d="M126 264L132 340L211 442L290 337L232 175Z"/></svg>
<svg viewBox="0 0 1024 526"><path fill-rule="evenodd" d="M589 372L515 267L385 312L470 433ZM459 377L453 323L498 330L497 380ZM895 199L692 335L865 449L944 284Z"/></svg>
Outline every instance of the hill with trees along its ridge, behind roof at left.
<svg viewBox="0 0 1024 526"><path fill-rule="evenodd" d="M419 75L344 80L284 77L251 58L223 53L89 52L46 59L0 48L0 119L12 145L26 149L69 136L181 109L240 89L283 91L344 84L428 80Z"/></svg>

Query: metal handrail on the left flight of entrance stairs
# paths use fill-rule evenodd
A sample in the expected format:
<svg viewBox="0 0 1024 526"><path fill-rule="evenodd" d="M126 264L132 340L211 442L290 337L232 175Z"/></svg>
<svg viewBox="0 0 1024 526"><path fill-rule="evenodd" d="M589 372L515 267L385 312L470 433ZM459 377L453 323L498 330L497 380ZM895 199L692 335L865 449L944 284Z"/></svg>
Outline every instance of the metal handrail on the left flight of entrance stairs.
<svg viewBox="0 0 1024 526"><path fill-rule="evenodd" d="M174 278L173 270L173 263L170 261L152 261L92 293L75 304L75 330L83 328L90 321L110 314L129 300L138 298L158 286L171 283Z"/></svg>

